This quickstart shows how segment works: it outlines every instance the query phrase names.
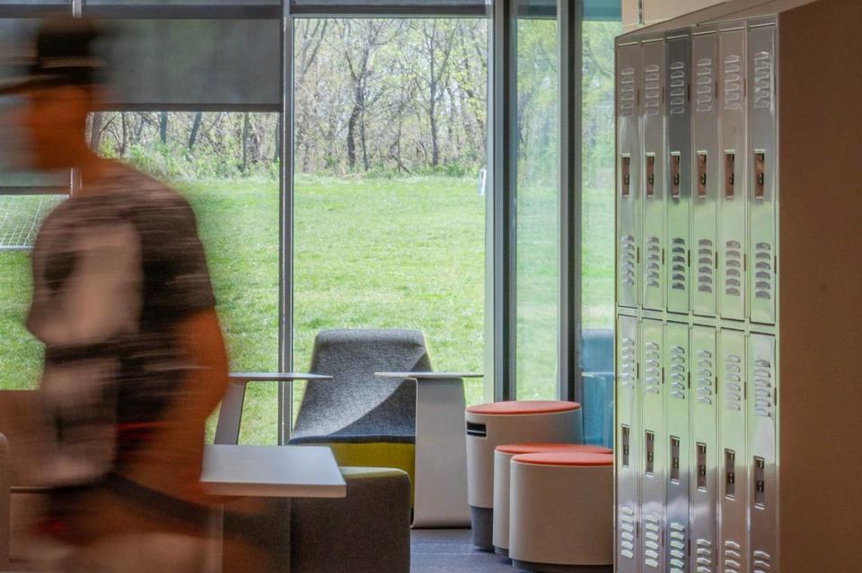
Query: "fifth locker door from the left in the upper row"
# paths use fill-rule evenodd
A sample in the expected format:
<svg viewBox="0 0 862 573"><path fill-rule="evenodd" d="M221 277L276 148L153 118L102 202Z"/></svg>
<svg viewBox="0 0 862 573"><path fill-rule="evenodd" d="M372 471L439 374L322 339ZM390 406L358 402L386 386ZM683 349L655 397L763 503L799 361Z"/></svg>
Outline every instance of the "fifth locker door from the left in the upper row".
<svg viewBox="0 0 862 573"><path fill-rule="evenodd" d="M721 74L721 213L718 221L718 313L721 317L745 318L745 205L747 203L745 105L745 30L720 33Z"/></svg>

